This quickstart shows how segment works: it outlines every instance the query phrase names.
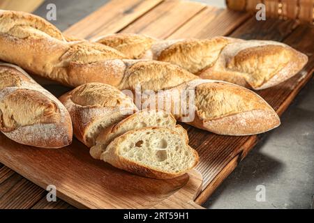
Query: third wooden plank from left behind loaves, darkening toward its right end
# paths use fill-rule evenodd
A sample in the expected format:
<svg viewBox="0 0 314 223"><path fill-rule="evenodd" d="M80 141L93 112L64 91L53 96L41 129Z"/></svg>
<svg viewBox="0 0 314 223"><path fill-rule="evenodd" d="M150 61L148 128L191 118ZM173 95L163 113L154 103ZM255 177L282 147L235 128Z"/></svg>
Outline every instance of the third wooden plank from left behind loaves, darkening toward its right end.
<svg viewBox="0 0 314 223"><path fill-rule="evenodd" d="M248 13L208 6L167 38L211 38L221 35L227 36L247 20L248 17L251 17Z"/></svg>

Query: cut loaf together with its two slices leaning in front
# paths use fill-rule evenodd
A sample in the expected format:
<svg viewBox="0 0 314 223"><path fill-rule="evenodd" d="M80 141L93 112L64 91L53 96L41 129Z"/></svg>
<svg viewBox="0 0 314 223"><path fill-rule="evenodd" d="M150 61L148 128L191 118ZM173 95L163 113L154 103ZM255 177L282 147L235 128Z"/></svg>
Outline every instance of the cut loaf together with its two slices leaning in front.
<svg viewBox="0 0 314 223"><path fill-rule="evenodd" d="M140 176L174 178L199 160L188 146L186 130L171 114L136 112L132 100L113 86L84 84L60 100L70 112L75 137L92 146L92 157L114 167Z"/></svg>

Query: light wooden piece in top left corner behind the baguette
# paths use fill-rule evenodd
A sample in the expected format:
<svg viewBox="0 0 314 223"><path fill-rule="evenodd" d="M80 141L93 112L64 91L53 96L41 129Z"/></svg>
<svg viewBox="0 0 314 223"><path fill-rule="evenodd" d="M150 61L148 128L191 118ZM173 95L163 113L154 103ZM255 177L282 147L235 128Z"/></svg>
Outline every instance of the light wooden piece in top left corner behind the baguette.
<svg viewBox="0 0 314 223"><path fill-rule="evenodd" d="M0 8L31 13L43 3L43 0L2 0Z"/></svg>

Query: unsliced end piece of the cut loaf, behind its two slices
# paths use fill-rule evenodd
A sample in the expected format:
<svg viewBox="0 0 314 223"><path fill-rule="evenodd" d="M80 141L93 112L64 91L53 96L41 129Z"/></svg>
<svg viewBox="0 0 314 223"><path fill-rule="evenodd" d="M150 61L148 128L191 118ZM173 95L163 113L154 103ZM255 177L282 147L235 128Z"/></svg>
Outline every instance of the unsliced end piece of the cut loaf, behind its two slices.
<svg viewBox="0 0 314 223"><path fill-rule="evenodd" d="M137 111L132 99L108 84L78 86L59 100L68 109L75 137L94 146L99 132Z"/></svg>

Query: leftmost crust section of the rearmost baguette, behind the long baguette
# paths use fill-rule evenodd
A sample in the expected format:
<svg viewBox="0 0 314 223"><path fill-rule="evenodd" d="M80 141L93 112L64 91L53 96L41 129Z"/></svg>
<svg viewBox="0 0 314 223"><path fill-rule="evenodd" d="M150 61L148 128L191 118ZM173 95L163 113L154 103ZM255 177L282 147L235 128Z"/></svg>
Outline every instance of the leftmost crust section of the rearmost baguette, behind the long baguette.
<svg viewBox="0 0 314 223"><path fill-rule="evenodd" d="M92 41L117 49L128 59L140 59L156 40L142 34L115 33Z"/></svg>

